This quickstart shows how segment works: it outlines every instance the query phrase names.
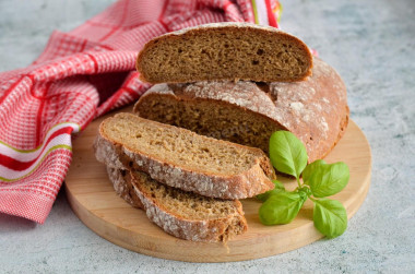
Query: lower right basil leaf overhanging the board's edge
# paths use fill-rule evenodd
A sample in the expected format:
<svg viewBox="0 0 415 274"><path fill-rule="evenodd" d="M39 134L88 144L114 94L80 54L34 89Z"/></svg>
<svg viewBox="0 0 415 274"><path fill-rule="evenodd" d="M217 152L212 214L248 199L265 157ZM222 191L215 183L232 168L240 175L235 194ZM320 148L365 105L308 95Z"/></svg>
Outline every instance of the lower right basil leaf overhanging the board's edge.
<svg viewBox="0 0 415 274"><path fill-rule="evenodd" d="M313 219L316 228L329 238L341 236L347 228L346 210L335 200L316 200Z"/></svg>

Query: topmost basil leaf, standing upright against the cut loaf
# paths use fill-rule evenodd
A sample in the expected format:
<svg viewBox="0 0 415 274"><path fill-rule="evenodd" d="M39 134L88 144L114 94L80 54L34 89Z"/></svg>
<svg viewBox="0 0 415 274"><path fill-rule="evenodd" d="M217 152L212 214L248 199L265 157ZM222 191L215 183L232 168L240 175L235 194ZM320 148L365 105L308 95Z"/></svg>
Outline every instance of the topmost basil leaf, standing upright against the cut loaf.
<svg viewBox="0 0 415 274"><path fill-rule="evenodd" d="M288 131L275 131L270 139L272 165L283 174L299 178L307 166L306 146Z"/></svg>

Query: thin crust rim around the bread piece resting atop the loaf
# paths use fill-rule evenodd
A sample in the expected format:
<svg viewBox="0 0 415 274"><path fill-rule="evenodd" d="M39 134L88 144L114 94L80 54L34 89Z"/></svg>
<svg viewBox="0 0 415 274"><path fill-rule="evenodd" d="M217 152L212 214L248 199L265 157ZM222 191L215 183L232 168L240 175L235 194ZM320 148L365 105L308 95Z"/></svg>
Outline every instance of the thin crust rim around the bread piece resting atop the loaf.
<svg viewBox="0 0 415 274"><path fill-rule="evenodd" d="M303 81L309 75L311 75L311 68L312 68L312 55L307 45L301 41L299 38L295 37L294 35L290 35L288 33L285 33L278 28L271 27L271 26L261 26L256 25L251 23L242 23L242 22L222 22L222 23L211 23L211 24L204 24L193 27L188 27L183 29L179 29L176 32L167 33L162 36L155 37L147 41L143 49L139 52L137 61L135 61L135 68L140 72L140 80L143 82L156 84L156 83L185 83L185 82L195 82L195 81L205 81L205 80L212 80L212 79L187 79L186 81L181 80L164 80L164 81L152 81L146 74L145 68L143 68L143 59L149 53L150 50L159 41L162 40L169 40L170 43L178 40L178 39L188 39L191 36L197 36L203 33L212 33L212 32L226 32L230 34L238 35L241 32L252 32L254 34L263 34L268 37L274 37L278 35L280 37L284 37L284 39L289 40L293 45L296 45L298 48L301 49L301 53L306 56L306 63L308 64L308 69L303 72L301 75L298 75L296 78L275 78L275 79L264 79L264 76L257 76L257 78L248 78L247 74L240 74L235 75L233 78L221 78L221 80L247 80L247 81L257 81L257 82L270 82L270 81L284 81L284 82L295 82L295 81ZM244 73L241 71L241 73Z"/></svg>

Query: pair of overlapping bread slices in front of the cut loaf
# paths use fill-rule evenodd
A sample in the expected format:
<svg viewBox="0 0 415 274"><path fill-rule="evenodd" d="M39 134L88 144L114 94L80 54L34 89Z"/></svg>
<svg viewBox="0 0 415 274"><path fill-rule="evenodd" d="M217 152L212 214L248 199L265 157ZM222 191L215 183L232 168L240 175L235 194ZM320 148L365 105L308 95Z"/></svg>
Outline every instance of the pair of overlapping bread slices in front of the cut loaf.
<svg viewBox="0 0 415 274"><path fill-rule="evenodd" d="M96 158L116 192L166 233L224 241L247 229L237 199L273 188L274 169L259 148L118 114L99 126Z"/></svg>

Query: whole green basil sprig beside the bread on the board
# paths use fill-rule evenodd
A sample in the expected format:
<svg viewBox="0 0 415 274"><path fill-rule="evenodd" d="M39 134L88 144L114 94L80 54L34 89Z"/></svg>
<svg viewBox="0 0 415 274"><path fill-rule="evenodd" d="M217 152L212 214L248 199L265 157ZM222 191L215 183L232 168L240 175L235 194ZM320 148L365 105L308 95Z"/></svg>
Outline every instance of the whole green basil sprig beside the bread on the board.
<svg viewBox="0 0 415 274"><path fill-rule="evenodd" d="M283 183L274 180L273 190L258 195L263 202L259 210L261 223L288 224L310 199L315 204L315 227L329 238L342 235L347 228L346 210L341 202L325 196L334 195L346 187L349 179L347 165L343 162L327 164L322 159L307 165L305 145L288 131L276 131L271 135L270 158L276 170L296 178L298 188L286 191Z"/></svg>

